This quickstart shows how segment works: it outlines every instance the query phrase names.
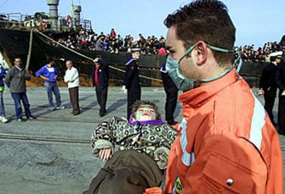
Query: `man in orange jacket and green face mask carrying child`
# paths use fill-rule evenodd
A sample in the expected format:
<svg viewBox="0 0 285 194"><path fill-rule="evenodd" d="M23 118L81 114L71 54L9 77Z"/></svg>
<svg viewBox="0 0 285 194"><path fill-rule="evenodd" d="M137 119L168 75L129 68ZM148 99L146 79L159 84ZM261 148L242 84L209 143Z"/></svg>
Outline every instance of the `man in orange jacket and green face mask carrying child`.
<svg viewBox="0 0 285 194"><path fill-rule="evenodd" d="M232 62L235 27L224 3L193 1L165 25L167 72L184 91L165 193L283 193L277 132L238 75L240 54Z"/></svg>

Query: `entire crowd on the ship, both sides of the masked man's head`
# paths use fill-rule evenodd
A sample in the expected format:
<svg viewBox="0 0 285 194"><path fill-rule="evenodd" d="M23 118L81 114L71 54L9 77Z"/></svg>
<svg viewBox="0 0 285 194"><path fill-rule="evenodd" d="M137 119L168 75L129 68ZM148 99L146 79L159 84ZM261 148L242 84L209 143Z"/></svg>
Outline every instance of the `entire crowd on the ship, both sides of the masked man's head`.
<svg viewBox="0 0 285 194"><path fill-rule="evenodd" d="M167 54L165 48L165 37L160 38L152 35L144 37L142 34L138 34L139 38L135 39L134 36L127 35L125 38L116 34L114 28L112 28L109 34L96 34L93 30L81 30L78 33L68 35L61 39L56 39L59 43L76 49L89 49L97 51L106 51L114 54L118 52L131 52L131 48L139 48L140 54ZM258 47L255 50L255 45L237 46L234 50L242 52L242 60L245 62L264 63L270 62L269 54L282 50L281 44L277 41L264 43L263 47Z"/></svg>

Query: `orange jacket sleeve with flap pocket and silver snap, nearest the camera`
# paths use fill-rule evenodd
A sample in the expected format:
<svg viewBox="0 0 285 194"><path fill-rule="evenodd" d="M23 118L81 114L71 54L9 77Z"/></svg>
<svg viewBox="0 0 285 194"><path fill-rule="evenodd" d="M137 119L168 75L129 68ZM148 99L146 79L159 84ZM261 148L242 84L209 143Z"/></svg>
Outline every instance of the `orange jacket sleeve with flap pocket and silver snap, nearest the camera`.
<svg viewBox="0 0 285 194"><path fill-rule="evenodd" d="M187 171L182 193L264 193L267 169L260 152L243 138L204 140Z"/></svg>

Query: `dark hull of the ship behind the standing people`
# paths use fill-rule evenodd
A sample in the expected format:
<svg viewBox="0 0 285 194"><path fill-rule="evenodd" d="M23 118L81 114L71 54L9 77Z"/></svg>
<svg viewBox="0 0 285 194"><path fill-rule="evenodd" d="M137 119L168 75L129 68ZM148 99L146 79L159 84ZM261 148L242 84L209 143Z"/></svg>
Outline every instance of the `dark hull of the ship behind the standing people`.
<svg viewBox="0 0 285 194"><path fill-rule="evenodd" d="M61 36L61 34L50 34L50 36ZM0 52L4 56L8 65L12 65L15 56L19 56L23 60L23 64L26 64L28 50L30 47L30 31L28 30L12 30L0 28ZM45 65L45 61L48 57L52 57L56 60L56 68L59 69L61 78L65 74L65 62L61 59L72 60L74 66L78 69L81 75L81 85L92 85L92 66L94 65L91 60L74 54L74 52L67 50L60 45L52 45L43 36L40 36L36 32L32 38L32 50L30 55L29 71L32 75ZM98 52L92 50L74 50L89 58L96 58L100 55L106 61L109 62L111 67L110 73L110 85L120 86L123 85L123 71L118 71L112 67L119 69L125 69L125 63L131 57L131 54L126 52L120 52L119 54L110 54L109 52ZM160 67L165 63L165 56L160 55L147 55L141 56L139 60L140 75L148 78L140 78L141 85L144 87L160 87L162 82L154 79L160 79ZM264 64L259 63L246 63L242 66L241 75L246 79L251 87L258 87L259 77ZM41 86L43 81L33 76L32 81L28 85ZM60 85L65 85L60 80Z"/></svg>

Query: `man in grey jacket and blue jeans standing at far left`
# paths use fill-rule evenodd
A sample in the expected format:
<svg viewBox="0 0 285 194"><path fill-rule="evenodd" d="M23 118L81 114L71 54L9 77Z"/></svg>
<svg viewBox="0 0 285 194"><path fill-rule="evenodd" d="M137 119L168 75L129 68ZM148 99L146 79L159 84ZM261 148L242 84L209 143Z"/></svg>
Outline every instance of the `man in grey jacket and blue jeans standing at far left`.
<svg viewBox="0 0 285 194"><path fill-rule="evenodd" d="M21 101L25 108L26 118L29 120L34 119L34 116L32 116L30 112L30 104L26 94L27 87L25 85L25 80L31 80L31 76L25 71L25 68L23 68L21 58L16 57L14 58L14 66L8 71L5 78L5 83L7 87L9 87L11 96L14 100L14 107L18 121L25 121L22 117Z"/></svg>

